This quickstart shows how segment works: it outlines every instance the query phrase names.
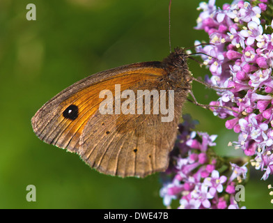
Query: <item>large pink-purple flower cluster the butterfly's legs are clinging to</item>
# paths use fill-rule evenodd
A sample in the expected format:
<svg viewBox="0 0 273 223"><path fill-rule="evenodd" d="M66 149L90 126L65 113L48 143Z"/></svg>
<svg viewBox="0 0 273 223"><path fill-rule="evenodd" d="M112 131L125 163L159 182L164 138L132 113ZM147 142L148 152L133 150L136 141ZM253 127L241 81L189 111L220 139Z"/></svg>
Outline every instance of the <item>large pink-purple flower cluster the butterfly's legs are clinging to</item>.
<svg viewBox="0 0 273 223"><path fill-rule="evenodd" d="M273 174L273 4L233 1L221 9L214 3L200 3L196 26L208 33L210 45L195 43L196 52L210 55L202 55L212 74L206 81L226 89L210 105L224 106L214 107L214 115L228 118L226 128L239 134L234 146L266 180Z"/></svg>

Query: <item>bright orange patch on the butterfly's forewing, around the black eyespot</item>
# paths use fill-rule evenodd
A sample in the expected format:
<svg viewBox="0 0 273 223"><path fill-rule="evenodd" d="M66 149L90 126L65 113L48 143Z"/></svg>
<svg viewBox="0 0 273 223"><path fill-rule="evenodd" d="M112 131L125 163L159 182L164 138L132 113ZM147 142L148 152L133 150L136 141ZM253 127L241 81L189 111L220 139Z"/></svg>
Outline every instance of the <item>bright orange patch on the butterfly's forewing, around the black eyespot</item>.
<svg viewBox="0 0 273 223"><path fill-rule="evenodd" d="M105 98L99 98L100 91L109 90L115 96L115 85L120 84L120 91L130 89L131 86L146 79L157 79L164 75L161 68L140 68L137 70L127 70L118 73L109 79L103 80L78 91L70 98L64 100L59 106L61 112L70 105L76 105L79 109L79 116L75 120L69 120L60 115L58 124L63 125L60 134L54 139L53 144L61 148L72 149L79 143L82 131L88 120L98 111L100 103ZM128 77L130 76L130 77Z"/></svg>

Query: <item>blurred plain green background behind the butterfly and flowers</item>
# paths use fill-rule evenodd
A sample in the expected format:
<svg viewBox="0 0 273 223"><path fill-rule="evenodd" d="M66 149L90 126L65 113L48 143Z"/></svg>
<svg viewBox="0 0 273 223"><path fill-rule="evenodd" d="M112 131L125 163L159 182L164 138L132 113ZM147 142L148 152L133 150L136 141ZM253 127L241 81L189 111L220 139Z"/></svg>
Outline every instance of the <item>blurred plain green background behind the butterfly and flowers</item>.
<svg viewBox="0 0 273 223"><path fill-rule="evenodd" d="M36 21L26 5L36 4ZM199 1L173 0L171 43L192 47L208 40L196 31ZM222 6L224 1L217 0ZM0 1L0 208L164 208L159 175L144 179L104 176L72 153L40 141L31 117L47 100L95 72L139 61L161 61L169 54L169 0L1 0ZM208 70L194 61L195 77ZM194 83L199 102L214 91ZM190 103L183 113L200 121L198 130L219 134L219 153L232 151L236 134L224 121ZM247 208L272 208L260 171L246 186ZM271 182L270 182L271 180ZM26 186L36 186L36 202Z"/></svg>

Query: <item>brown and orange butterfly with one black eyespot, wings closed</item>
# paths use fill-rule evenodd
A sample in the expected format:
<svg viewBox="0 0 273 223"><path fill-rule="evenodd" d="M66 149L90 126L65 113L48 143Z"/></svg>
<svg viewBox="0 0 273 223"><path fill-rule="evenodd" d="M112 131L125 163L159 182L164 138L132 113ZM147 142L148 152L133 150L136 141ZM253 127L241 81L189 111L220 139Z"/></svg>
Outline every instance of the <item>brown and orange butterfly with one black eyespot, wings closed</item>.
<svg viewBox="0 0 273 223"><path fill-rule="evenodd" d="M43 105L31 119L36 135L47 144L77 153L90 167L103 174L145 177L165 171L176 141L182 106L192 89L192 75L185 49L177 48L163 61L133 63L98 72L82 79ZM115 86L174 92L173 121L163 122L163 112L115 114ZM102 91L113 92L111 114L102 114ZM166 96L166 95L165 95ZM162 104L162 95L150 97L150 105ZM120 99L120 103L127 98ZM143 99L144 100L144 97ZM139 104L135 102L134 108ZM142 109L142 108L141 108ZM137 110L136 110L137 111Z"/></svg>

